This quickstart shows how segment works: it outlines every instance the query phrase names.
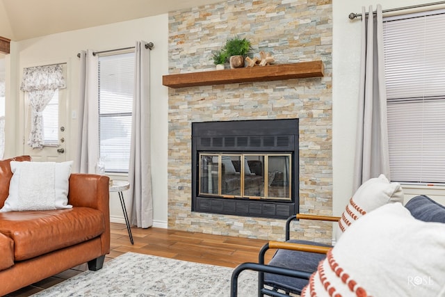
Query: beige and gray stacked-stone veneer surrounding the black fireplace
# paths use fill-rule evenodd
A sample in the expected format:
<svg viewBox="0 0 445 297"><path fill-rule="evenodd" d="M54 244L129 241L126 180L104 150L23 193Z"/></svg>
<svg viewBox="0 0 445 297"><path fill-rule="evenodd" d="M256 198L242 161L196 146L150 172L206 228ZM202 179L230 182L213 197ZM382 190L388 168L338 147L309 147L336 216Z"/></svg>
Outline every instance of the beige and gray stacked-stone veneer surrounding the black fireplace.
<svg viewBox="0 0 445 297"><path fill-rule="evenodd" d="M213 70L213 51L239 35L275 64L323 61L325 77L169 90L168 227L284 239L284 220L191 211L191 122L300 119L300 212L332 214L332 3L232 0L169 15L169 72ZM226 67L228 67L226 65ZM300 222L294 238L330 243L332 225Z"/></svg>

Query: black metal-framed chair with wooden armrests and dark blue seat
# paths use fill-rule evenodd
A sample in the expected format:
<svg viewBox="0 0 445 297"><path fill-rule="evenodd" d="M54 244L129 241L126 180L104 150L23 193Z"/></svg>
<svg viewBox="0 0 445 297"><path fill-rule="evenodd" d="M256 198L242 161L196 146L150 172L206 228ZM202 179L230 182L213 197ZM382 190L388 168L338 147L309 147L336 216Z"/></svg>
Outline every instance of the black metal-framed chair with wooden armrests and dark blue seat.
<svg viewBox="0 0 445 297"><path fill-rule="evenodd" d="M336 222L334 216L297 214L286 220L286 242L269 241L259 252L258 263L243 263L232 273L231 296L236 296L238 275L244 270L258 271L258 296L289 296L300 294L309 282L309 277L317 270L318 263L326 257L332 246L313 241L290 239L290 225L293 220L324 220ZM270 248L277 249L266 265L264 256ZM266 287L265 287L266 285ZM280 293L278 290L284 291Z"/></svg>

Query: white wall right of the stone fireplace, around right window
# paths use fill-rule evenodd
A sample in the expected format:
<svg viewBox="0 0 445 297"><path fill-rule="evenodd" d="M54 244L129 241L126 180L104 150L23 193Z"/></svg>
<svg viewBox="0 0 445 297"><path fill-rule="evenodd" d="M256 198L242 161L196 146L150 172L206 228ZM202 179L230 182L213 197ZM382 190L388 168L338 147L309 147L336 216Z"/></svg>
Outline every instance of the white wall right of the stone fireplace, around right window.
<svg viewBox="0 0 445 297"><path fill-rule="evenodd" d="M430 3L429 0L333 0L333 49L332 49L332 163L333 163L333 211L339 215L350 199L353 188L353 162L355 154L355 129L357 122L357 98L359 86L361 21L348 19L350 13L362 13L362 6L380 3L382 9L400 8ZM430 7L431 8L431 7ZM443 8L443 6L441 7ZM418 10L416 10L418 11ZM406 13L407 10L399 11ZM385 14L387 15L387 14ZM428 190L412 191L404 187L405 195L428 193ZM430 195L428 193L428 195ZM433 193L432 195L437 195Z"/></svg>

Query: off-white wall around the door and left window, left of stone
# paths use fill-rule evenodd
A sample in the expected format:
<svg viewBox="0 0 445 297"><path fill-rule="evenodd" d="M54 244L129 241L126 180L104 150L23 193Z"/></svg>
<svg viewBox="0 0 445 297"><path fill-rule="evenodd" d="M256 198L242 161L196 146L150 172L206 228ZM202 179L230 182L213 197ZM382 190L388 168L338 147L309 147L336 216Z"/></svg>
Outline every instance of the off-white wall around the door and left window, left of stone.
<svg viewBox="0 0 445 297"><path fill-rule="evenodd" d="M23 145L23 99L19 92L19 79L24 67L47 65L50 63L67 63L67 93L68 115L77 111L79 97L79 58L77 54L82 49L102 51L131 47L136 40L154 42L151 52L151 102L152 102L152 172L154 197L154 225L167 225L167 136L168 136L168 88L162 86L162 75L168 74L168 15L158 15L120 22L89 29L69 31L41 38L33 38L20 42L12 42L11 54L6 63L7 73L10 75L7 90L8 104L6 113L13 115L9 118L7 127L7 147L5 155L22 154ZM69 116L71 131L66 150L67 160L76 156L76 136L78 120ZM114 179L126 177L113 177ZM130 204L127 193L127 207ZM111 195L112 221L124 222L118 195Z"/></svg>

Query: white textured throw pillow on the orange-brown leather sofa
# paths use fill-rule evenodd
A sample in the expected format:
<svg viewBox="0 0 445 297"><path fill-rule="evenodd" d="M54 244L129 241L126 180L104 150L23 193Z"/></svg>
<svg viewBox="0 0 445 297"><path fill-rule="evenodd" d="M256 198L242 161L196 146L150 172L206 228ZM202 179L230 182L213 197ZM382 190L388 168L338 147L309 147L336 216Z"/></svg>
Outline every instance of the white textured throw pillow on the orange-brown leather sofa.
<svg viewBox="0 0 445 297"><path fill-rule="evenodd" d="M13 177L1 212L68 209L68 187L72 161L11 161Z"/></svg>

